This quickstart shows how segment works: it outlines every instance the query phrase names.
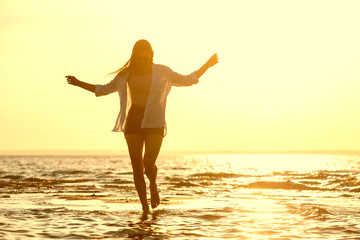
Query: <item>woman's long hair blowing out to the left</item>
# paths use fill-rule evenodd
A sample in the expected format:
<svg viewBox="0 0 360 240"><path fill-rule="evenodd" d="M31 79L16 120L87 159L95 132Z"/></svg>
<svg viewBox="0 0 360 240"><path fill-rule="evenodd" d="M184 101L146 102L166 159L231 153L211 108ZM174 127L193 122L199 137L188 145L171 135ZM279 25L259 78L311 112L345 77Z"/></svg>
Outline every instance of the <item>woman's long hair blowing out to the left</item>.
<svg viewBox="0 0 360 240"><path fill-rule="evenodd" d="M130 59L124 64L124 66L122 66L121 68L119 68L118 70L109 73L108 75L119 75L121 73L127 72L129 70L131 70L132 68L134 68L134 62L137 56L137 53L139 51L147 51L150 53L151 55L151 63L153 63L153 58L154 58L154 52L152 50L152 47L150 45L150 43L145 40L145 39L141 39L139 41L137 41L133 47L132 53L131 53L131 57Z"/></svg>

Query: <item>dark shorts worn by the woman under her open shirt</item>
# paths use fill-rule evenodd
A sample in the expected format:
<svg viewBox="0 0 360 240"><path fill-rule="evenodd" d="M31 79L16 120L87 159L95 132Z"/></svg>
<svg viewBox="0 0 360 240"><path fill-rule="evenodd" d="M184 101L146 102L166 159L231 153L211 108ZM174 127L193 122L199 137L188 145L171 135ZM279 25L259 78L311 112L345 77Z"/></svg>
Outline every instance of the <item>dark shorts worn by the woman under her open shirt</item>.
<svg viewBox="0 0 360 240"><path fill-rule="evenodd" d="M146 137L151 134L158 134L164 136L164 127L161 128L141 128L141 123L144 118L145 108L138 106L131 106L125 125L124 134L137 134Z"/></svg>

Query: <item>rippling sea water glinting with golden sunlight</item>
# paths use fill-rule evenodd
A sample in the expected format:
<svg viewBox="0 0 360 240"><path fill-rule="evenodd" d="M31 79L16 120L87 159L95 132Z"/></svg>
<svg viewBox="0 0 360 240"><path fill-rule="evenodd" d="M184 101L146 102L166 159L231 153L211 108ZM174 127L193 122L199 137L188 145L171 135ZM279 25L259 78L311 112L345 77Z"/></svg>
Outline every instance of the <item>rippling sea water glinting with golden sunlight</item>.
<svg viewBox="0 0 360 240"><path fill-rule="evenodd" d="M126 154L0 156L0 239L360 239L359 154L157 166L161 204L143 218Z"/></svg>

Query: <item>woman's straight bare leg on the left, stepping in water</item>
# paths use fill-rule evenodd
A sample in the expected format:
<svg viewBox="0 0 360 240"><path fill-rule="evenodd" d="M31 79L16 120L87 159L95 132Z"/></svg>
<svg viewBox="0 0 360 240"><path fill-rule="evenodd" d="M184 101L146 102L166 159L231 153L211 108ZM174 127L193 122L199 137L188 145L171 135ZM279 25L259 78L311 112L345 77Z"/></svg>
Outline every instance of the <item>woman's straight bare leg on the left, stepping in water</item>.
<svg viewBox="0 0 360 240"><path fill-rule="evenodd" d="M139 195L144 214L147 214L149 212L149 205L146 198L146 183L144 179L144 162L142 156L144 137L137 134L126 134L125 139L129 149L136 191Z"/></svg>

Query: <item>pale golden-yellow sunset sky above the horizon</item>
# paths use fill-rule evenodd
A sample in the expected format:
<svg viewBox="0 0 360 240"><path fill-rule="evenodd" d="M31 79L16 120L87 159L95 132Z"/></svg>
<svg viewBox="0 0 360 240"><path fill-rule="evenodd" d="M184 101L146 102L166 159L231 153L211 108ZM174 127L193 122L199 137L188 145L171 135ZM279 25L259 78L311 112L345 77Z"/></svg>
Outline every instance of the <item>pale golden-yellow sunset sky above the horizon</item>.
<svg viewBox="0 0 360 240"><path fill-rule="evenodd" d="M145 38L173 88L163 150L360 150L359 1L0 1L0 151L126 150L118 95L96 98Z"/></svg>

